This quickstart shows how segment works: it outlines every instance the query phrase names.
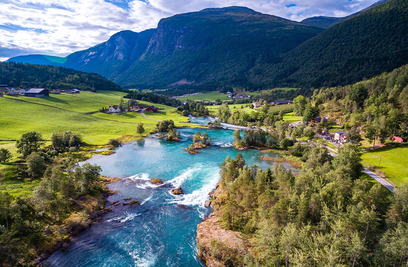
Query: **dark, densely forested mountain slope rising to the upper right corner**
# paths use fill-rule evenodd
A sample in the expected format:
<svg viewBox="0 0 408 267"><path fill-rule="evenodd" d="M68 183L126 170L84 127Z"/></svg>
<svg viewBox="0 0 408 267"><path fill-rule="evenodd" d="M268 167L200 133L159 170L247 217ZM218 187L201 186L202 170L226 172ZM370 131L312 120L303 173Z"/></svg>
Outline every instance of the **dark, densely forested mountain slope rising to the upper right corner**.
<svg viewBox="0 0 408 267"><path fill-rule="evenodd" d="M408 1L388 0L336 24L248 76L269 87L353 84L408 62Z"/></svg>

